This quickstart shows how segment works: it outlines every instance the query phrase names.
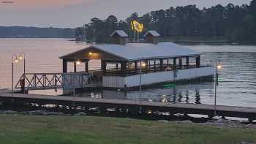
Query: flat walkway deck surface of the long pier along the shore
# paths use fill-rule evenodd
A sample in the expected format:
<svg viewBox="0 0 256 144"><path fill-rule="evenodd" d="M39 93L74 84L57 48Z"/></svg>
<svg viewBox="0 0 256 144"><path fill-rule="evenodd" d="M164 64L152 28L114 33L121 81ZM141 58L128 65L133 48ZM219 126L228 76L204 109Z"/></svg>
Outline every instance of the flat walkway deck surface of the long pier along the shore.
<svg viewBox="0 0 256 144"><path fill-rule="evenodd" d="M7 91L0 91L0 99L11 99L12 94ZM72 103L72 96L48 96L48 95L36 95L36 94L14 94L13 99L26 99L26 101L37 100L46 102L66 102ZM89 99L85 97L75 96L75 102L88 105L126 105L128 107L135 107L139 105L139 101L129 99ZM214 105L194 105L194 104L173 104L168 102L146 102L141 101L141 106L147 110L164 110L173 111L173 113L189 113L189 114L211 114L214 112ZM234 116L240 118L255 118L256 119L256 107L233 107L217 105L217 113L219 115Z"/></svg>

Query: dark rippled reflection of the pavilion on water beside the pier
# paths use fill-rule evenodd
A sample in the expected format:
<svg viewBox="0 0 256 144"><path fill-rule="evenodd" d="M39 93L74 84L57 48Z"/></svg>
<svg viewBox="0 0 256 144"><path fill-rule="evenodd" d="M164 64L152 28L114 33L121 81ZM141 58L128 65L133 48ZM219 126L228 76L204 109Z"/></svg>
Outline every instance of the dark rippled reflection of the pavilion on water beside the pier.
<svg viewBox="0 0 256 144"><path fill-rule="evenodd" d="M200 88L198 87L200 85ZM141 100L170 103L201 104L200 89L212 89L214 83L194 83L189 85L178 85L175 88L151 88L143 89ZM86 91L77 96L91 99L132 99L139 100L139 91ZM204 95L204 99L211 97Z"/></svg>

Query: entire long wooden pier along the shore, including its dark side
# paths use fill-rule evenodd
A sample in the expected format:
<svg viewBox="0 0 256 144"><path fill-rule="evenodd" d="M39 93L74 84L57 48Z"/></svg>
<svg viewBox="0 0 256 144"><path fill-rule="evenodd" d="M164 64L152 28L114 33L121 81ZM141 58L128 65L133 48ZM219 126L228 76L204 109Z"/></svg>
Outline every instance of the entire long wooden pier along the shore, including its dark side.
<svg viewBox="0 0 256 144"><path fill-rule="evenodd" d="M143 113L150 110L170 114L182 113L208 116L213 116L214 110L216 110L217 115L248 118L249 121L256 120L256 107L232 107L217 105L215 109L214 105L173 104L146 101L141 101L139 106L139 101L129 99L90 99L78 96L46 96L36 94L14 94L14 96L12 96L12 94L8 93L7 91L0 91L0 101L38 105L64 105L69 107L72 107L75 102L76 107L99 107L100 110L116 108L116 110L138 112L139 108L141 108Z"/></svg>

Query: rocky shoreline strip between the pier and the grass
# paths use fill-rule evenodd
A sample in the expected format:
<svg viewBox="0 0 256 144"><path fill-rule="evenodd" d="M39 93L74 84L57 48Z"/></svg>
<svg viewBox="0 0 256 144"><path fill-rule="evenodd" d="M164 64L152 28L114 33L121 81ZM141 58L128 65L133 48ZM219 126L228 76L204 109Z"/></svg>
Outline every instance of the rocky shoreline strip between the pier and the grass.
<svg viewBox="0 0 256 144"><path fill-rule="evenodd" d="M176 123L176 124L198 124L202 126L214 126L219 129L256 129L256 121L249 123L246 121L238 121L238 120L231 120L225 119L220 117L215 118L193 118L189 117L189 115L176 115L176 118L173 116L166 116L160 118L153 118L152 115L136 115L136 116L129 116L129 115L111 115L109 114L99 114L99 113L84 113L84 112L75 112L75 113L63 113L63 112L56 112L56 111L48 111L48 110L32 110L32 111L13 111L13 110L0 110L1 115L15 115L16 117L21 116L64 116L64 117L99 117L99 118L129 118L134 120L141 120L141 121L161 121L162 123Z"/></svg>

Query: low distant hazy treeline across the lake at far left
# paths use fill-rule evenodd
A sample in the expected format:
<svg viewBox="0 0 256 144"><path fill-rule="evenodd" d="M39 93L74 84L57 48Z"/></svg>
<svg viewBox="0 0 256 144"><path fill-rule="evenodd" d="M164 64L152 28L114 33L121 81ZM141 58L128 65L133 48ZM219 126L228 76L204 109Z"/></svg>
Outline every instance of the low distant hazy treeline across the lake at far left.
<svg viewBox="0 0 256 144"><path fill-rule="evenodd" d="M0 26L1 38L69 38L74 37L74 29L37 28L23 26Z"/></svg>

